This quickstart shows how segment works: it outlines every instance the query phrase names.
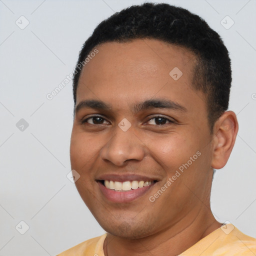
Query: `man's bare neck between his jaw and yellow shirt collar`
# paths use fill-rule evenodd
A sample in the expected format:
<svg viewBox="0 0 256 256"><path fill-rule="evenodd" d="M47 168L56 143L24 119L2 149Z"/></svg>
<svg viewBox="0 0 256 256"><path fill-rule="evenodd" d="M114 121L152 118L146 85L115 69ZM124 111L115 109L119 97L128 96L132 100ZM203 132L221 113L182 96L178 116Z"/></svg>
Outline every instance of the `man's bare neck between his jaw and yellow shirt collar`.
<svg viewBox="0 0 256 256"><path fill-rule="evenodd" d="M171 227L143 238L128 239L107 233L104 255L147 256L149 252L151 255L178 255L221 226L210 209L203 207L195 218L188 221L186 217Z"/></svg>

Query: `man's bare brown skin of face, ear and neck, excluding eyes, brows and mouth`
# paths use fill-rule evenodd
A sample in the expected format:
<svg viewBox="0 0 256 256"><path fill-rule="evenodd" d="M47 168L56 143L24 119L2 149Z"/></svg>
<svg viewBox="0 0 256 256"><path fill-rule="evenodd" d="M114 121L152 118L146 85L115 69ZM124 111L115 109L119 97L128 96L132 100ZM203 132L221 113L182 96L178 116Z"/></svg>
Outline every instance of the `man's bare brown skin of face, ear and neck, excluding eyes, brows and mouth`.
<svg viewBox="0 0 256 256"><path fill-rule="evenodd" d="M180 254L221 226L210 210L212 168L222 168L230 155L236 116L224 112L210 132L206 96L191 84L195 58L183 47L137 39L96 48L99 52L82 69L76 105L95 99L111 108L81 108L75 113L70 160L80 174L78 192L107 232L105 255ZM178 80L169 75L173 67L183 73ZM134 103L155 98L172 100L186 111L133 111ZM95 118L81 123L93 114L102 116L99 124ZM155 115L173 122L159 124ZM123 118L131 124L125 132L118 127ZM149 201L197 151L200 156ZM105 199L95 180L109 173L136 173L158 182L133 201L114 203Z"/></svg>

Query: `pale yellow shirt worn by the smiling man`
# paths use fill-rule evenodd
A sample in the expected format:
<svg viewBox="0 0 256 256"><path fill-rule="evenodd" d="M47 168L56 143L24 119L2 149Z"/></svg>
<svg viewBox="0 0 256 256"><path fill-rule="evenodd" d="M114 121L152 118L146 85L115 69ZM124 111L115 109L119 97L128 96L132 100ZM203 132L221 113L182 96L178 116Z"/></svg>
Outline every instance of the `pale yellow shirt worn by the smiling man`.
<svg viewBox="0 0 256 256"><path fill-rule="evenodd" d="M104 256L106 233L81 242L57 256ZM256 239L243 234L232 224L214 230L178 256L253 256Z"/></svg>

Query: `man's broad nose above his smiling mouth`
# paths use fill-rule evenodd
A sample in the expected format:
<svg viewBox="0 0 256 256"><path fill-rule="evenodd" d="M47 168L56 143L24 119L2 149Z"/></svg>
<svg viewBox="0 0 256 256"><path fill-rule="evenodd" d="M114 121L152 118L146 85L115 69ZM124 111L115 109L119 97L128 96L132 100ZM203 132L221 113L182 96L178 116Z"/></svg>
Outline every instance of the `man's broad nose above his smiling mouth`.
<svg viewBox="0 0 256 256"><path fill-rule="evenodd" d="M113 133L100 150L100 156L103 160L122 166L126 160L141 161L143 159L145 147L139 137L134 134L132 126L126 131L116 126Z"/></svg>

